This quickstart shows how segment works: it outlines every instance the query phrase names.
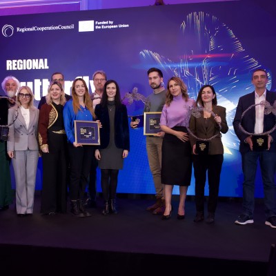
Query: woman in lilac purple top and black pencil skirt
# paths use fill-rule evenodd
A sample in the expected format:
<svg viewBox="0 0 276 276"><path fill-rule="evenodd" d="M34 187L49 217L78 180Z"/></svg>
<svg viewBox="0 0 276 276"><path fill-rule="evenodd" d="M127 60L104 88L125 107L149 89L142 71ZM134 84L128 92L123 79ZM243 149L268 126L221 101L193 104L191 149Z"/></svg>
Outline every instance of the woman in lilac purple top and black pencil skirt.
<svg viewBox="0 0 276 276"><path fill-rule="evenodd" d="M179 77L168 80L166 103L162 110L160 126L165 132L162 144L161 181L165 185L166 209L161 219L170 219L172 213L172 188L179 186L177 219L185 217L185 199L192 175L191 146L187 127L195 101L189 99L187 87Z"/></svg>

